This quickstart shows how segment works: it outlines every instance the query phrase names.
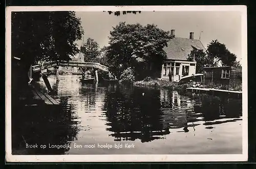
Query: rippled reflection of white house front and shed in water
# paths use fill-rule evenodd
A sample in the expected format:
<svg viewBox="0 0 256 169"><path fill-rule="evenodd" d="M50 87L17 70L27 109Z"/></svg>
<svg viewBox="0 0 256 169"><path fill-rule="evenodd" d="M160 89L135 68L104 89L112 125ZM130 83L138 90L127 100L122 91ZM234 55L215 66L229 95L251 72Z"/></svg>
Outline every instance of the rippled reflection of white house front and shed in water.
<svg viewBox="0 0 256 169"><path fill-rule="evenodd" d="M208 94L180 95L176 91L168 90L160 90L160 98L164 128L195 126L193 123L201 120L218 121L221 118L238 118L242 115L241 99Z"/></svg>

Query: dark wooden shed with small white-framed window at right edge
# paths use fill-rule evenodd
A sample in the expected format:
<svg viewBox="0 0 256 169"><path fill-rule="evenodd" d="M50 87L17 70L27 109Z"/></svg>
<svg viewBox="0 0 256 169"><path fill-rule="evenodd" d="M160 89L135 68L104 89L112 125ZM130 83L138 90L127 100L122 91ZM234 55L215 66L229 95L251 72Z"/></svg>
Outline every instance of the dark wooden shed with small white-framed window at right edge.
<svg viewBox="0 0 256 169"><path fill-rule="evenodd" d="M204 84L242 84L242 67L204 67Z"/></svg>

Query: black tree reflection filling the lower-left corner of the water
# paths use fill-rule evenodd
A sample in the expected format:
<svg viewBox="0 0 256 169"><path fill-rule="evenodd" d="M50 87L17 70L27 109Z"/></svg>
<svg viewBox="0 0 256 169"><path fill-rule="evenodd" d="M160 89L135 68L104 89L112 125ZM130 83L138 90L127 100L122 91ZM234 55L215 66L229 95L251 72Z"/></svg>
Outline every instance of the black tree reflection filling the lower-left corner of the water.
<svg viewBox="0 0 256 169"><path fill-rule="evenodd" d="M64 111L54 107L15 107L12 110L12 154L65 154L70 148L49 148L50 145L68 145L77 139L78 123L74 120L74 107L68 97L62 97ZM19 110L18 110L19 109ZM20 111L22 110L22 111ZM21 113L22 112L22 113ZM26 118L24 118L26 117ZM23 120L20 120L23 119ZM38 148L26 148L26 143ZM46 145L44 149L40 145Z"/></svg>

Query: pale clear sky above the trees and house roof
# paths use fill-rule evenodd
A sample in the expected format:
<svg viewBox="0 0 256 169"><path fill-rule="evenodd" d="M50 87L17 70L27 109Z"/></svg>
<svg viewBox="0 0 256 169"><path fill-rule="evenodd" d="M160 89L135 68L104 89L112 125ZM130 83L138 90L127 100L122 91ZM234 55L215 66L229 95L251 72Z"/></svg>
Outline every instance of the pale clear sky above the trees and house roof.
<svg viewBox="0 0 256 169"><path fill-rule="evenodd" d="M81 18L84 30L84 41L92 38L100 47L108 45L110 31L119 22L154 23L164 31L175 30L176 37L189 38L189 32L194 32L194 39L199 39L205 48L211 40L218 39L227 49L242 59L241 44L241 13L236 11L142 11L140 14L115 16L108 12L76 12ZM80 46L82 41L77 41Z"/></svg>

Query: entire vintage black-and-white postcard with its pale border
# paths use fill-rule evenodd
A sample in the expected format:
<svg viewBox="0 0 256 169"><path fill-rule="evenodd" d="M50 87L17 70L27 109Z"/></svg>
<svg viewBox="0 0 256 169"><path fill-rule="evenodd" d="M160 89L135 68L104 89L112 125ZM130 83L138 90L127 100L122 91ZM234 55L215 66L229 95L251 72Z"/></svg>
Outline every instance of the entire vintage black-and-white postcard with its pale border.
<svg viewBox="0 0 256 169"><path fill-rule="evenodd" d="M6 161L247 161L246 13L7 7Z"/></svg>

